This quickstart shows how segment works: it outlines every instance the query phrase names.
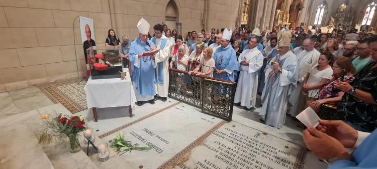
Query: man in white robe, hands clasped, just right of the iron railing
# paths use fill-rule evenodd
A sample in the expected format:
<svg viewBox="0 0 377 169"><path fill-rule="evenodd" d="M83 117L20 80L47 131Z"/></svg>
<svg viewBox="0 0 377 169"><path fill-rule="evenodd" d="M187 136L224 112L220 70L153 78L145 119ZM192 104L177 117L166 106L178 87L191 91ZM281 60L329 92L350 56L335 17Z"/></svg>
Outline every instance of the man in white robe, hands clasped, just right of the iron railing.
<svg viewBox="0 0 377 169"><path fill-rule="evenodd" d="M238 57L238 66L241 70L234 103L241 103L245 110L255 107L258 89L258 70L263 65L263 55L257 49L259 38L254 36L249 40L249 49L244 50Z"/></svg>

